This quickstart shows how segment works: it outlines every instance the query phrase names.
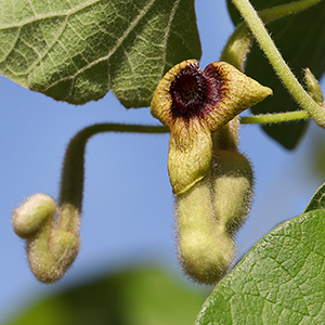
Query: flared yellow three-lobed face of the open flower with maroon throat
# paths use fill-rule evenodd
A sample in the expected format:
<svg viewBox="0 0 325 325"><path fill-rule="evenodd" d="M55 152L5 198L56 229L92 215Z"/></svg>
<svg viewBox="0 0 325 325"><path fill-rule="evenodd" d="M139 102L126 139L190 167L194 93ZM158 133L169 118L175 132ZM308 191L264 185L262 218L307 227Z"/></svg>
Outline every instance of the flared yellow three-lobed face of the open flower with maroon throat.
<svg viewBox="0 0 325 325"><path fill-rule="evenodd" d="M225 62L204 72L196 60L171 68L152 100L152 115L170 130L168 171L174 194L190 190L211 165L211 132L272 94Z"/></svg>

